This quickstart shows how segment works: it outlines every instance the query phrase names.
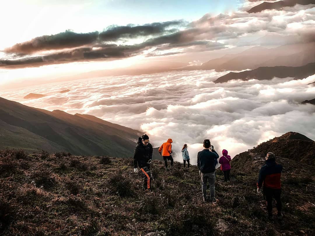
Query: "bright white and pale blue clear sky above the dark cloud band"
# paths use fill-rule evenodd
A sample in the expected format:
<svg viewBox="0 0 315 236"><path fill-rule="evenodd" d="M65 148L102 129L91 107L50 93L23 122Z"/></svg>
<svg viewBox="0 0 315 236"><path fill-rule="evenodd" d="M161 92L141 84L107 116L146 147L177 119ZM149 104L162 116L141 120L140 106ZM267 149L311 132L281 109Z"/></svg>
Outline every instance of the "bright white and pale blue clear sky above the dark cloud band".
<svg viewBox="0 0 315 236"><path fill-rule="evenodd" d="M236 0L11 0L1 3L0 50L34 37L71 29L102 31L109 25L142 25L184 19L236 8ZM6 9L6 10L4 10ZM14 13L14 17L13 14ZM1 57L1 55L0 55Z"/></svg>

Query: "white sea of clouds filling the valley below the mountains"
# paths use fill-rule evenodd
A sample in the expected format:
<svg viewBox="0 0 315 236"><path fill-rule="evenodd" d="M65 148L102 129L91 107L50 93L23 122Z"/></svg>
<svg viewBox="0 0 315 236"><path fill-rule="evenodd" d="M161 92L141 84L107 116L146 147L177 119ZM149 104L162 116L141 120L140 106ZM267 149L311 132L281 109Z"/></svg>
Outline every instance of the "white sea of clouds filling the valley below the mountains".
<svg viewBox="0 0 315 236"><path fill-rule="evenodd" d="M175 160L188 144L192 164L203 139L232 157L275 136L294 131L315 139L315 75L303 80L229 81L228 72L175 71L141 76L110 76L25 87L0 96L31 107L100 117L142 130L154 147L172 138ZM68 93L59 93L70 89ZM28 93L46 94L23 99Z"/></svg>

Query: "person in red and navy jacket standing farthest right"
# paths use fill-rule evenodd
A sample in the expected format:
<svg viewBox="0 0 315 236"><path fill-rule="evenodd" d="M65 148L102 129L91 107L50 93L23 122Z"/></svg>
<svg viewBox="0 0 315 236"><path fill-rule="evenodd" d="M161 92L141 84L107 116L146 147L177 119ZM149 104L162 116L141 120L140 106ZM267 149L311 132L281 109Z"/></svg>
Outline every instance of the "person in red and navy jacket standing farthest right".
<svg viewBox="0 0 315 236"><path fill-rule="evenodd" d="M272 197L276 200L278 219L282 219L281 214L281 172L282 166L276 163L276 155L268 152L266 155L266 165L262 166L257 182L257 193L263 192L268 211L268 218L272 219ZM263 191L261 190L262 185Z"/></svg>

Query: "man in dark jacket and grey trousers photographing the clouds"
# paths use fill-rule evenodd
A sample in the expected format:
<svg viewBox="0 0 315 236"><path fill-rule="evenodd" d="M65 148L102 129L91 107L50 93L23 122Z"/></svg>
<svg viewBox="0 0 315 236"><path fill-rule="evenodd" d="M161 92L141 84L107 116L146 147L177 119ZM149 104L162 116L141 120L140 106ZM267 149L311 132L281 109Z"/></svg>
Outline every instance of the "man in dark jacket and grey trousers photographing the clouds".
<svg viewBox="0 0 315 236"><path fill-rule="evenodd" d="M211 146L210 140L203 140L204 149L198 152L197 166L202 183L203 201L207 199L207 181L209 180L210 186L210 202L215 203L215 166L218 163L219 155Z"/></svg>

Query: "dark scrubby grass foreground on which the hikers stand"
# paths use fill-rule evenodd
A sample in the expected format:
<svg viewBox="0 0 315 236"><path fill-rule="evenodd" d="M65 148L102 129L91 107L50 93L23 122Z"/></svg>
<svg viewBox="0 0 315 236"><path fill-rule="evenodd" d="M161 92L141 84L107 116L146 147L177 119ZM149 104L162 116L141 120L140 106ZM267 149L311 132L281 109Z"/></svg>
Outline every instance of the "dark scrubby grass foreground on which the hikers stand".
<svg viewBox="0 0 315 236"><path fill-rule="evenodd" d="M218 202L203 203L196 166L154 160L144 192L132 160L68 153L0 152L1 235L312 235L314 171L280 158L284 220L268 221L256 193L263 155L232 160L231 182L217 171Z"/></svg>

